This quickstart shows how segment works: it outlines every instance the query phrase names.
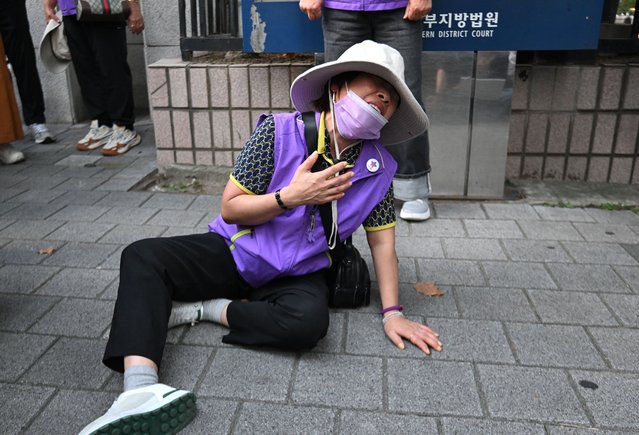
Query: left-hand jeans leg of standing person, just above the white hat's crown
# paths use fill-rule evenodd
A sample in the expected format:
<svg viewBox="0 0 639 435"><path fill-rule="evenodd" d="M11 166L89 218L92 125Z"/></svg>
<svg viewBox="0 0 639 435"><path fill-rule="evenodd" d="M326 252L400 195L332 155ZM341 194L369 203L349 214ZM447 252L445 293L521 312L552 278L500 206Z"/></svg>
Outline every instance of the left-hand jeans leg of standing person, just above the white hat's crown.
<svg viewBox="0 0 639 435"><path fill-rule="evenodd" d="M322 9L324 61L336 60L349 47L373 38L373 28L367 12Z"/></svg>

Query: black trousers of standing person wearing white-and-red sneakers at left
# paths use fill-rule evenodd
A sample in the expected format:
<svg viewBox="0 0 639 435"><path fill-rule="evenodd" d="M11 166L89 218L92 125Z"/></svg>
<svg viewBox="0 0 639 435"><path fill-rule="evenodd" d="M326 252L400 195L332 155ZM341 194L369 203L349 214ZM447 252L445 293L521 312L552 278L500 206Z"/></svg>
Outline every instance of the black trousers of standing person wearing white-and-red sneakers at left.
<svg viewBox="0 0 639 435"><path fill-rule="evenodd" d="M2 0L4 1L4 0ZM133 80L127 62L126 22L82 22L63 17L82 100L100 125L133 130Z"/></svg>

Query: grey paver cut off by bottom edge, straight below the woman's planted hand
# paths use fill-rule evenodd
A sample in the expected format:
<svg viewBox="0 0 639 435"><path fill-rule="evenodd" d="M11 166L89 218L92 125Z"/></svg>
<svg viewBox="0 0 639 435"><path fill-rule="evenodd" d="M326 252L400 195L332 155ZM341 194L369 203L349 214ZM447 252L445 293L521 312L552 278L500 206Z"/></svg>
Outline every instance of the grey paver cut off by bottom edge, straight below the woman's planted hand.
<svg viewBox="0 0 639 435"><path fill-rule="evenodd" d="M326 426L327 429L329 427ZM422 435L437 433L437 424L431 417L349 410L342 412L339 428L342 433L353 435L381 435L395 433L398 430Z"/></svg>

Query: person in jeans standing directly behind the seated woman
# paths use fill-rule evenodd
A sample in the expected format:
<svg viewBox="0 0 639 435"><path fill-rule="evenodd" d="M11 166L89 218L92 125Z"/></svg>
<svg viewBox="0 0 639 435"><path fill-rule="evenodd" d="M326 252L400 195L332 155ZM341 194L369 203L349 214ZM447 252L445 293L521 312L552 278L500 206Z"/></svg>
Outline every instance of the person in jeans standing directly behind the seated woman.
<svg viewBox="0 0 639 435"><path fill-rule="evenodd" d="M423 107L422 19L432 9L431 0L300 0L299 6L310 20L322 18L325 61L365 39L399 51L406 63L406 84ZM399 165L394 181L395 198L404 201L399 216L411 221L430 218L428 131L388 151Z"/></svg>

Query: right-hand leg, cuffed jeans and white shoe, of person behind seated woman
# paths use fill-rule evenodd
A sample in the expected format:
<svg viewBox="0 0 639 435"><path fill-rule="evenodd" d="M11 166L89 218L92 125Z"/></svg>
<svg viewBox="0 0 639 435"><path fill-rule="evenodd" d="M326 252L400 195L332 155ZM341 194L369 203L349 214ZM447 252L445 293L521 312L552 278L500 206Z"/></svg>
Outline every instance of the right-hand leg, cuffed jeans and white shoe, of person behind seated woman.
<svg viewBox="0 0 639 435"><path fill-rule="evenodd" d="M422 24L404 20L403 9L373 12L377 42L388 44L404 58L404 75L408 88L423 107L422 102ZM388 147L398 167L393 182L395 198L406 201L400 217L425 220L430 217L430 143L428 131L401 144Z"/></svg>

